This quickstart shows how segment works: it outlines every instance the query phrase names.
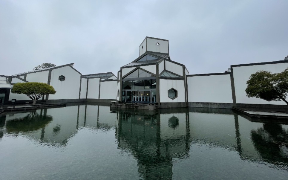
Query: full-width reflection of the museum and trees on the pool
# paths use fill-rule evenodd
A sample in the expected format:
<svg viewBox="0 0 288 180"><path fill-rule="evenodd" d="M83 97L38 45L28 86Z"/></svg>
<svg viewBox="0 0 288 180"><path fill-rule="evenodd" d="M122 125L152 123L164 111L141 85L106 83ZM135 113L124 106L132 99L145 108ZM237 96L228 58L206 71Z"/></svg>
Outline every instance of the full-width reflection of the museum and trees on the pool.
<svg viewBox="0 0 288 180"><path fill-rule="evenodd" d="M288 170L288 149L279 144L288 143L288 125L253 122L230 109L135 111L82 104L0 115L0 138L24 135L44 146L66 147L79 129L115 131L118 149L137 159L144 179L172 179L174 162L191 158L195 145Z"/></svg>

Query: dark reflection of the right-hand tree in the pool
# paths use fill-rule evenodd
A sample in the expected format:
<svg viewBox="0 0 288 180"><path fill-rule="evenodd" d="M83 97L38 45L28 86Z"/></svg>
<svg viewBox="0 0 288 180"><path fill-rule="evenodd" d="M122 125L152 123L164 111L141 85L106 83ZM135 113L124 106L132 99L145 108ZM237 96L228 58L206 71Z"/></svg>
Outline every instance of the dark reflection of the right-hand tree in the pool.
<svg viewBox="0 0 288 180"><path fill-rule="evenodd" d="M288 143L288 131L281 124L264 123L263 128L251 130L251 139L264 161L280 167L282 163L288 163L288 147L280 144Z"/></svg>

